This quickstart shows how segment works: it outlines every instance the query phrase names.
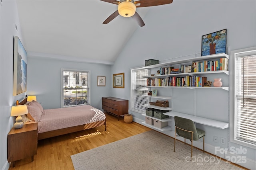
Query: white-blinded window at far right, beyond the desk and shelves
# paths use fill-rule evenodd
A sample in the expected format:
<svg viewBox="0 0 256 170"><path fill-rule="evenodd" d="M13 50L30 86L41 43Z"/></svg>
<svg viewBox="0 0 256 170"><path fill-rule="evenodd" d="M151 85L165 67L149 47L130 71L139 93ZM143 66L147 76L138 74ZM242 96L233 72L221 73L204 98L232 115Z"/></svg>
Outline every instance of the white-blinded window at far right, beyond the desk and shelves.
<svg viewBox="0 0 256 170"><path fill-rule="evenodd" d="M256 50L252 49L232 51L230 56L230 66L234 66L230 70L230 117L232 142L256 146Z"/></svg>

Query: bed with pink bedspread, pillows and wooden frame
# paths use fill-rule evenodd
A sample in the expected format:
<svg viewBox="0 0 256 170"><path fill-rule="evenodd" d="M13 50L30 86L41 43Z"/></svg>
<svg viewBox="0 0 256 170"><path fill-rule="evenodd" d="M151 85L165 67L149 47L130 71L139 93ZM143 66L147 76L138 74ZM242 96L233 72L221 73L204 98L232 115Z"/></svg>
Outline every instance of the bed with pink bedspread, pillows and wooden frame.
<svg viewBox="0 0 256 170"><path fill-rule="evenodd" d="M76 131L105 126L105 114L90 105L65 107L59 109L43 109L37 101L27 102L27 98L16 102L26 104L29 113L24 115L23 122L38 122L38 140L64 135Z"/></svg>

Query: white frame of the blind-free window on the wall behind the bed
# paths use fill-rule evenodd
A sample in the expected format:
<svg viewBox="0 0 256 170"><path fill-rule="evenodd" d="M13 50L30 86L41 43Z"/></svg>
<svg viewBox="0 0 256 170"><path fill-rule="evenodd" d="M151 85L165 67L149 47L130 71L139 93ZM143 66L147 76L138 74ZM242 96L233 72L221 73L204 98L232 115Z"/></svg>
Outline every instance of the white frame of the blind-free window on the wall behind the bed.
<svg viewBox="0 0 256 170"><path fill-rule="evenodd" d="M90 70L78 70L78 69L70 69L70 68L60 68L60 105L61 108L63 107L74 107L74 106L81 106L83 104L79 104L79 105L72 105L72 106L63 106L63 101L64 101L64 90L63 90L63 80L64 80L64 75L63 75L63 71L70 71L70 72L86 72L87 73L87 104L86 105L90 105ZM81 82L83 82L83 80L81 80Z"/></svg>

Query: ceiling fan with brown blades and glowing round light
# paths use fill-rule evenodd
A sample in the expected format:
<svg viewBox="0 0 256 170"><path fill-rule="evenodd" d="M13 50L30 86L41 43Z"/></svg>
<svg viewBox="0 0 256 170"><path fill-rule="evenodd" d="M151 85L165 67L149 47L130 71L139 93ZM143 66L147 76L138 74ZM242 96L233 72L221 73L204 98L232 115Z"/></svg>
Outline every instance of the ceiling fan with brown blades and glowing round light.
<svg viewBox="0 0 256 170"><path fill-rule="evenodd" d="M172 3L173 0L101 0L104 2L109 2L111 4L118 5L118 10L111 14L103 23L107 24L116 18L118 15L123 17L132 17L134 20L138 22L138 24L143 27L145 25L144 21L140 17L140 15L136 12L136 8L139 7L148 7L148 6L157 6L157 5L165 5Z"/></svg>

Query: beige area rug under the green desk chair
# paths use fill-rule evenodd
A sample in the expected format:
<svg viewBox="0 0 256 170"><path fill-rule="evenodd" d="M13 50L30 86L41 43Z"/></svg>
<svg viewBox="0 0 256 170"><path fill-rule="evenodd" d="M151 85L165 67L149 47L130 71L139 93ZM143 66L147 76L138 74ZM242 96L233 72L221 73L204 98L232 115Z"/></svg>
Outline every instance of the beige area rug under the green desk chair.
<svg viewBox="0 0 256 170"><path fill-rule="evenodd" d="M220 158L158 133L147 131L101 147L71 155L75 170L240 169Z"/></svg>

